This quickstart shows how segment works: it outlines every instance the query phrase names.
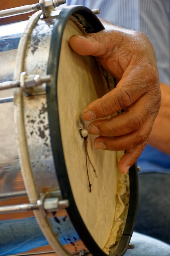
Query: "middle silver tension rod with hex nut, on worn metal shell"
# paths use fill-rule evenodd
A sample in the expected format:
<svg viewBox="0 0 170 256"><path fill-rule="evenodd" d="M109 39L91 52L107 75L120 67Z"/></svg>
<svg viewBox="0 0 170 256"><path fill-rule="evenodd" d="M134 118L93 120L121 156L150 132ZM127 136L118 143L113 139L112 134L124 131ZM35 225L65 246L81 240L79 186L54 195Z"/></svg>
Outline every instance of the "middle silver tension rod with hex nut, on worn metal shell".
<svg viewBox="0 0 170 256"><path fill-rule="evenodd" d="M20 81L7 81L0 83L0 90L21 87L25 92L30 95L31 92L29 88L33 88L48 82L51 82L51 75L40 76L38 74L35 74L27 76L26 72L22 72L20 74Z"/></svg>

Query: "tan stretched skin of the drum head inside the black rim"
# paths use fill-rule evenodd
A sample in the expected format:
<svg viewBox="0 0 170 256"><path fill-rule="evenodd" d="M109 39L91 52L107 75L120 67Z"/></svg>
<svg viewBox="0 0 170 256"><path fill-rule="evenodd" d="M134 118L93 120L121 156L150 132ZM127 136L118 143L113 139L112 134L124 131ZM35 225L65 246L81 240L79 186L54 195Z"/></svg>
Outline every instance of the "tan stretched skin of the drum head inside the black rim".
<svg viewBox="0 0 170 256"><path fill-rule="evenodd" d="M77 209L96 243L104 248L115 216L116 152L95 150L94 137L91 135L88 135L86 148L86 139L80 135L80 130L86 128L83 109L98 98L97 86L100 91L104 85L95 60L90 56L78 56L70 49L68 40L73 34L80 34L79 29L69 20L64 29L57 78L64 159ZM86 163L87 154L93 165L89 159ZM91 192L88 176L92 185Z"/></svg>

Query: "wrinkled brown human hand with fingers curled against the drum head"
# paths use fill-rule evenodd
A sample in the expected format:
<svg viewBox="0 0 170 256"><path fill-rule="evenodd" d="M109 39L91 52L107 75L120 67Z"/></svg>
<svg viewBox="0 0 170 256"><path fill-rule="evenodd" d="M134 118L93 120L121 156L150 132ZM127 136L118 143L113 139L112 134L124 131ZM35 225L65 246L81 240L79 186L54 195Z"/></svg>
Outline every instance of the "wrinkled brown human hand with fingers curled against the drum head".
<svg viewBox="0 0 170 256"><path fill-rule="evenodd" d="M127 173L144 150L159 111L159 74L154 50L144 34L107 26L108 30L98 33L71 36L70 45L77 54L98 57L118 81L115 89L86 106L84 120L92 121L89 134L99 135L95 148L126 150L119 170ZM120 110L124 112L100 119Z"/></svg>

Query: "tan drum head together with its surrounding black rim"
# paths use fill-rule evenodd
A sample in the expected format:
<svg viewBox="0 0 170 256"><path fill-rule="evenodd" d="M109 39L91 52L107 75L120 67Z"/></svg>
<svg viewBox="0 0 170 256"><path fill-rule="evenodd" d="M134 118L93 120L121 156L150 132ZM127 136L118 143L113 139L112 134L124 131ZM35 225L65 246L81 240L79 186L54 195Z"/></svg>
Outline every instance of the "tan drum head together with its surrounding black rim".
<svg viewBox="0 0 170 256"><path fill-rule="evenodd" d="M79 20L79 28L74 24L75 17ZM82 26L84 19L86 25ZM88 135L84 139L80 135L80 130L88 127L83 121L83 109L107 92L106 81L104 83L97 61L90 56L77 55L68 40L73 34L101 29L102 24L85 7L66 7L61 11L53 29L49 54L48 74L52 74L53 81L47 85L51 144L62 197L69 200L68 215L93 255L106 255L103 249L113 229L119 170L116 152L96 150L94 136ZM125 220L129 224L117 251L111 255L126 252L135 224L135 166L130 169L129 176L132 186L129 203L132 200L134 206L129 207L130 220Z"/></svg>

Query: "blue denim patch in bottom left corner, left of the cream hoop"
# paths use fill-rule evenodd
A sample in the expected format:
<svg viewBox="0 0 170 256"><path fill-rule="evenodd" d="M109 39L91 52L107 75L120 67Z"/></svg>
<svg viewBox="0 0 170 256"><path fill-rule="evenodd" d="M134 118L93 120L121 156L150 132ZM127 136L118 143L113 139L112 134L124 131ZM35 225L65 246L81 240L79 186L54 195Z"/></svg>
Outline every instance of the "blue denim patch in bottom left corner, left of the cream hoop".
<svg viewBox="0 0 170 256"><path fill-rule="evenodd" d="M0 255L26 252L48 245L42 231L33 218L0 221Z"/></svg>

